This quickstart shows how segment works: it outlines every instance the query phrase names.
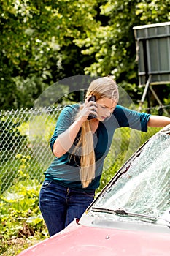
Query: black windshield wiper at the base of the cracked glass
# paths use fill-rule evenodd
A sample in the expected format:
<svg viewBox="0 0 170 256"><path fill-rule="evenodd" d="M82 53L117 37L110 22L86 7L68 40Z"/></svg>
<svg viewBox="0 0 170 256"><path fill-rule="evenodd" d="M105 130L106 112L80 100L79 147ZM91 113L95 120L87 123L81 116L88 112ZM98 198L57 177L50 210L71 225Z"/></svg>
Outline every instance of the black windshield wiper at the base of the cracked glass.
<svg viewBox="0 0 170 256"><path fill-rule="evenodd" d="M107 209L107 208L92 207L91 211L102 212L102 213L107 213L107 214L119 214L119 215L123 215L123 216L126 215L129 217L143 217L143 218L152 219L155 221L157 219L163 219L161 217L150 216L147 214L137 214L137 213L128 212L128 211L125 211L125 209L123 209L123 208L112 210L112 209ZM167 220L167 219L163 219L163 220L170 224L169 220Z"/></svg>

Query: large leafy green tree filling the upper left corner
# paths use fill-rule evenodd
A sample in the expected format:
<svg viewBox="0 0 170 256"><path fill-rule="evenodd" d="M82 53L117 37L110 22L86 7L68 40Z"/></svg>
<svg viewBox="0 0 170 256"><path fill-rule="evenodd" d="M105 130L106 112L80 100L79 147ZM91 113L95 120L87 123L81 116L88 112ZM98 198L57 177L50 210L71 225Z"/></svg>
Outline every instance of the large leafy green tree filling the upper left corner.
<svg viewBox="0 0 170 256"><path fill-rule="evenodd" d="M68 65L72 75L83 71L74 39L85 38L97 26L95 4L1 0L1 108L30 108L47 86L67 75Z"/></svg>

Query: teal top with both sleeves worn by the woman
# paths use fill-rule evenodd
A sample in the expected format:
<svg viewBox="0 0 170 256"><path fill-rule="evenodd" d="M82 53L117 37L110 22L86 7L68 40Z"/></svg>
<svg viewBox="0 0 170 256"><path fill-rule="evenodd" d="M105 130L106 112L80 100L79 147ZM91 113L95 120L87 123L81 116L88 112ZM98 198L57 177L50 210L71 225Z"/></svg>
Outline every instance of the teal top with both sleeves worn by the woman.
<svg viewBox="0 0 170 256"><path fill-rule="evenodd" d="M62 132L70 127L74 122L74 118L80 109L80 105L74 104L63 108L55 127L55 132L50 140L50 147L53 151L53 144ZM103 170L104 159L107 157L109 148L112 143L112 138L115 129L120 127L131 127L142 132L147 132L147 122L150 114L139 113L134 110L129 110L120 105L117 105L112 116L103 122L99 121L98 129L93 134L94 151L96 156L96 178L91 181L87 188L82 188L80 181L80 157L72 156L72 148L62 157L55 157L50 167L45 171L45 179L61 184L70 189L81 189L85 191L92 191L99 187L101 173ZM76 145L80 137L80 131L74 140Z"/></svg>

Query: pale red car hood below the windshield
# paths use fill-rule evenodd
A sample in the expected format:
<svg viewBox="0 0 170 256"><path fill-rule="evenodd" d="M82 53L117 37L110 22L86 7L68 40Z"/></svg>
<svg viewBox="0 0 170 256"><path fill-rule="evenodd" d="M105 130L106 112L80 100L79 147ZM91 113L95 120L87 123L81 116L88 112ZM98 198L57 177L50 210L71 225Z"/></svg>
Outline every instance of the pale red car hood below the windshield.
<svg viewBox="0 0 170 256"><path fill-rule="evenodd" d="M20 256L169 256L169 241L170 233L87 227L74 221L60 233L21 252Z"/></svg>

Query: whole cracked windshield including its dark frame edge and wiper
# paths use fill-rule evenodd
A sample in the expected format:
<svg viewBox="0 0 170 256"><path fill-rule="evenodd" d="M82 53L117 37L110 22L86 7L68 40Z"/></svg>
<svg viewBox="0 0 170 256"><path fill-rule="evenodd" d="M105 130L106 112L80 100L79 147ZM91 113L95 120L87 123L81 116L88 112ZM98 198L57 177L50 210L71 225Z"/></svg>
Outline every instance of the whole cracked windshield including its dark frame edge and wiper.
<svg viewBox="0 0 170 256"><path fill-rule="evenodd" d="M125 162L85 211L83 218L169 226L169 155L170 126L167 126Z"/></svg>

